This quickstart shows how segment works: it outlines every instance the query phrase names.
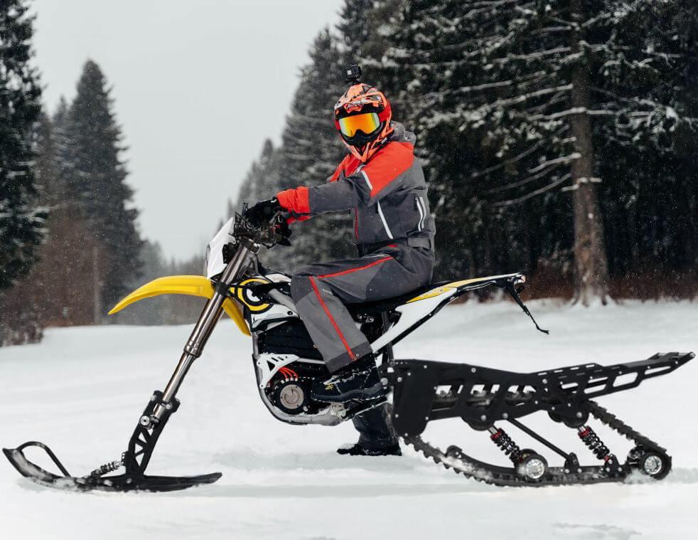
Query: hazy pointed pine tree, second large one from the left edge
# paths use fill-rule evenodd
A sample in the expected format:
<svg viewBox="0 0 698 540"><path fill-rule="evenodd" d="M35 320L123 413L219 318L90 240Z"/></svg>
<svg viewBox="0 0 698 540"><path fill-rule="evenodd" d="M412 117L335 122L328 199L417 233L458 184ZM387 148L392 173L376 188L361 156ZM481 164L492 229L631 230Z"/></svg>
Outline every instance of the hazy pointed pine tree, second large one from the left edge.
<svg viewBox="0 0 698 540"><path fill-rule="evenodd" d="M63 160L67 196L91 223L100 250L102 305L123 295L139 270L138 211L126 184L122 134L100 67L87 60L70 105ZM102 309L104 311L104 309Z"/></svg>

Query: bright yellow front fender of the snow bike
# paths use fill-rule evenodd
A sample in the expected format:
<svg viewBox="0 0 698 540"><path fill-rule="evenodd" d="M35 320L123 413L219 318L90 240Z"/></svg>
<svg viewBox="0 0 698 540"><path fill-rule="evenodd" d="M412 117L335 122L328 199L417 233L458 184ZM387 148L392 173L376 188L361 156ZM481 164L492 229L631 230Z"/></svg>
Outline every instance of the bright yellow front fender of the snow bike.
<svg viewBox="0 0 698 540"><path fill-rule="evenodd" d="M121 302L112 307L110 315L120 312L124 307L127 307L134 302L159 295L188 295L199 296L202 298L213 298L213 284L208 277L203 275L170 275L168 277L159 277L141 287L138 287L134 292L125 297ZM240 332L249 336L249 329L245 324L245 319L242 318L240 308L230 298L223 301L223 309L228 314Z"/></svg>

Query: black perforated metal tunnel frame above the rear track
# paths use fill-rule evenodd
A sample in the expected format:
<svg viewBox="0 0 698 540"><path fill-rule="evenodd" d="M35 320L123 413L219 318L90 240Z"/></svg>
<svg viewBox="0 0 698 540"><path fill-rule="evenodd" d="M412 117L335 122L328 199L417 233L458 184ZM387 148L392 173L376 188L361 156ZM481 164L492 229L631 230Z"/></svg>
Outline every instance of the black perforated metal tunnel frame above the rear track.
<svg viewBox="0 0 698 540"><path fill-rule="evenodd" d="M580 415L588 415L585 402L635 388L647 378L671 373L693 357L693 353L657 353L625 364L580 364L528 374L471 364L394 360L381 367L381 376L394 388L394 428L399 435L415 437L431 420L442 418L462 418L473 428L486 429L498 420L547 411L574 423ZM625 381L626 376L631 380ZM453 392L450 399L439 396L439 387L446 386ZM473 393L476 386L482 386L485 398L478 399ZM514 400L511 393L525 399Z"/></svg>

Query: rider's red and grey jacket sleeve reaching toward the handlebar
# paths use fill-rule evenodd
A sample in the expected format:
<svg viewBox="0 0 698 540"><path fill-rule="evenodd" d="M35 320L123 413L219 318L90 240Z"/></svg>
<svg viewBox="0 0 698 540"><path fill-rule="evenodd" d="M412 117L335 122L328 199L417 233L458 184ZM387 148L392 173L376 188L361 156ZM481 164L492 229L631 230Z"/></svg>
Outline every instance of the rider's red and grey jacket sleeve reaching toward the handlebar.
<svg viewBox="0 0 698 540"><path fill-rule="evenodd" d="M365 166L345 178L322 186L287 189L276 195L281 206L299 214L349 210L370 206L399 189L400 178L414 162L412 144L392 142ZM336 174L336 171L335 171Z"/></svg>

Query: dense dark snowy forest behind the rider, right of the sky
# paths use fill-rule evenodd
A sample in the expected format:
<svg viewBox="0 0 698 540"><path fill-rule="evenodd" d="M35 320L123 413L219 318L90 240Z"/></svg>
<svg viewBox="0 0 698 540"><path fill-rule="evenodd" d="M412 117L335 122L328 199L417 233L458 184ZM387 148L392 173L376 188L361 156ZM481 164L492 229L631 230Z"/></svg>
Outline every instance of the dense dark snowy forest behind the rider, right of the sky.
<svg viewBox="0 0 698 540"><path fill-rule="evenodd" d="M698 6L691 1L348 1L316 36L281 144L237 196L323 182L342 68L417 134L436 218L436 279L523 271L588 305L694 297ZM353 248L343 216L299 224L292 271Z"/></svg>

